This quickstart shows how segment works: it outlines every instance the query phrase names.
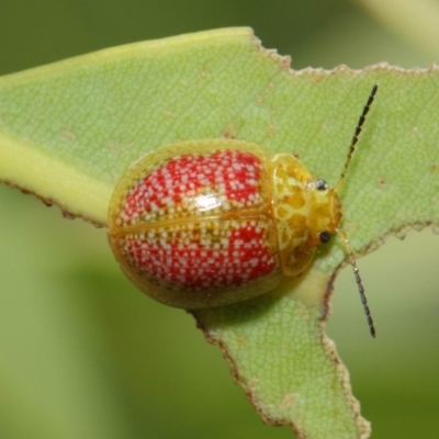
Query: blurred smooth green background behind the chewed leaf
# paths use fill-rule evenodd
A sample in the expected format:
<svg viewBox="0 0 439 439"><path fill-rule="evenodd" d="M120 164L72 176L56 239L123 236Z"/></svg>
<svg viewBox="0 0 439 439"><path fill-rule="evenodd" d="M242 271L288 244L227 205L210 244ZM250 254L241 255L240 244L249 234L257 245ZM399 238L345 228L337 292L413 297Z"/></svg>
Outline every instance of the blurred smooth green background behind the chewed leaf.
<svg viewBox="0 0 439 439"><path fill-rule="evenodd" d="M405 34L404 20L394 34L385 20L342 0L1 0L0 75L236 25L291 55L295 69L428 67L437 54ZM58 209L0 185L0 438L294 436L262 424L191 316L128 284L103 229L63 219ZM350 269L336 282L328 331L373 438L438 435L438 260L431 230L389 238L360 259L376 340Z"/></svg>

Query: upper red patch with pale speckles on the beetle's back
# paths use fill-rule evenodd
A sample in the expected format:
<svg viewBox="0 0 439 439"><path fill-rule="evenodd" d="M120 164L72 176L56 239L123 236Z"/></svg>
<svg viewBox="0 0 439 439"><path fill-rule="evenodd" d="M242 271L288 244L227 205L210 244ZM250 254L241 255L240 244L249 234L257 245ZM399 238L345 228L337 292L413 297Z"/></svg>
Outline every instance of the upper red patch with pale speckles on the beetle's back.
<svg viewBox="0 0 439 439"><path fill-rule="evenodd" d="M239 150L171 158L133 188L124 202L124 215L133 217L154 207L177 205L185 195L209 188L246 204L260 190L261 169L257 156Z"/></svg>

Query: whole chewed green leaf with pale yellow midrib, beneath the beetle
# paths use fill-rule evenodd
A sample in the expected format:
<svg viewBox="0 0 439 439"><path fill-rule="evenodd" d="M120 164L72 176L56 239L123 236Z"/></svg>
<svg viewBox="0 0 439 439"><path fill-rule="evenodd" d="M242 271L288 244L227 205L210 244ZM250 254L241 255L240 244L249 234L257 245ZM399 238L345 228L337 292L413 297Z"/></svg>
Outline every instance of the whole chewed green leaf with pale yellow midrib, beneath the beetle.
<svg viewBox="0 0 439 439"><path fill-rule="evenodd" d="M376 82L340 191L342 227L363 254L389 234L438 225L436 68L291 71L246 29L102 50L0 78L0 179L104 225L114 184L135 159L177 140L226 136L297 153L335 185ZM299 437L369 435L323 333L345 259L336 240L272 294L195 315L261 416Z"/></svg>

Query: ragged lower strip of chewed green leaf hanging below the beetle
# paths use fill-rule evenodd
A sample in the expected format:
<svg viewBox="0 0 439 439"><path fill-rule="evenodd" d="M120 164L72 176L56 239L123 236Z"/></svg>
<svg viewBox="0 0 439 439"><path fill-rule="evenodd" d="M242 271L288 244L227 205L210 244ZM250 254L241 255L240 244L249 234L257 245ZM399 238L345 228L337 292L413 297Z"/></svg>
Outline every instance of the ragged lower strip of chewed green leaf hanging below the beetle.
<svg viewBox="0 0 439 439"><path fill-rule="evenodd" d="M267 423L300 438L368 437L349 374L322 333L327 284L315 270L275 295L195 317Z"/></svg>

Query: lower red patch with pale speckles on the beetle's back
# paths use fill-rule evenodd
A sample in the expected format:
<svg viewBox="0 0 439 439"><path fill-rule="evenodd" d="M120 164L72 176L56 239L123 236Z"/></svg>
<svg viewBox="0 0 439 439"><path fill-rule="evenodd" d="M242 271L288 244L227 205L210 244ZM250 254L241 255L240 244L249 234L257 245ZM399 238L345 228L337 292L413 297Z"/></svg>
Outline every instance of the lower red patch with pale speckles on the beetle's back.
<svg viewBox="0 0 439 439"><path fill-rule="evenodd" d="M264 224L264 223L263 223ZM193 240L155 243L126 237L125 249L137 270L183 289L240 285L269 274L277 266L266 228L247 222L233 228L219 249Z"/></svg>

